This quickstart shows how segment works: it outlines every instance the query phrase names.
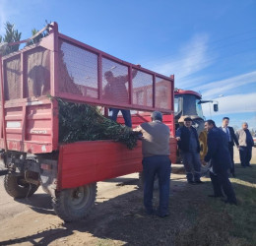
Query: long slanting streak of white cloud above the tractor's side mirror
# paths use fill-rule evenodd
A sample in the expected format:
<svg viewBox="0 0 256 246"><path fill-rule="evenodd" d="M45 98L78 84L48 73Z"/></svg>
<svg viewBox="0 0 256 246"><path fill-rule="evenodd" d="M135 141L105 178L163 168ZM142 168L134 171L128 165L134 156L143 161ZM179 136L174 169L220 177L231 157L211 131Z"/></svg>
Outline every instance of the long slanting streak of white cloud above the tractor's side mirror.
<svg viewBox="0 0 256 246"><path fill-rule="evenodd" d="M256 71L228 78L221 81L211 82L195 88L195 91L203 92L205 98L212 98L224 92L230 92L233 89L244 87L249 84L256 83Z"/></svg>

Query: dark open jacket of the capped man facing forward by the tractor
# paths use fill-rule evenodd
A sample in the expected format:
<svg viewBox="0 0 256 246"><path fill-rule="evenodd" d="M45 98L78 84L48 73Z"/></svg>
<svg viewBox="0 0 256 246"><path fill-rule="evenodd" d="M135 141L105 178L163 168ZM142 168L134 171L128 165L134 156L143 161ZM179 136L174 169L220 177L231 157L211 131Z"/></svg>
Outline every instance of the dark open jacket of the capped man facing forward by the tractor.
<svg viewBox="0 0 256 246"><path fill-rule="evenodd" d="M197 130L194 127L191 127L191 131L193 131L193 133L196 136L197 152L200 153L200 144L198 140ZM180 141L178 141L178 148L182 152L189 152L190 135L191 135L190 131L185 126L178 128L176 131L176 137L180 137Z"/></svg>

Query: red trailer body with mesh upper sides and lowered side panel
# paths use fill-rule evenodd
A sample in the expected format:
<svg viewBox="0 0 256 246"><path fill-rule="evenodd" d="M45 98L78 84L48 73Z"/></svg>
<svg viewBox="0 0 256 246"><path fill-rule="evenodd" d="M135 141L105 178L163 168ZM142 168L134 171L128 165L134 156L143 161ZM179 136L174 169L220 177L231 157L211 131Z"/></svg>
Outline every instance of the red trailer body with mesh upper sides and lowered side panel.
<svg viewBox="0 0 256 246"><path fill-rule="evenodd" d="M149 112L159 110L164 114L163 122L168 125L173 137L174 76L165 77L63 35L58 32L56 23L51 28L50 34L40 42L0 59L0 149L32 154L59 151L58 189L77 187L141 171L140 142L133 151L112 141L79 142L59 146L58 105L55 100L47 98L46 91L49 90L52 96L75 102L139 110L140 114L132 116L133 127L151 121ZM61 49L63 42L66 44L66 51L65 47ZM33 58L29 61L30 55L33 55ZM15 62L18 65L15 65L15 62L12 64L14 57L21 65L17 61ZM7 72L7 64L15 67L15 70L9 69ZM126 103L111 101L102 96L106 84L103 73L112 69L107 67L109 64L119 67L114 71L115 76L125 76L124 72L118 72L118 69L127 71L129 100ZM76 68L80 66L82 69L77 72ZM134 69L140 74L138 78L131 76ZM14 81L15 76L20 77ZM10 85L14 84L20 93L17 98L6 100L10 98L13 89ZM46 91L43 91L44 89ZM13 97L16 96L14 94ZM28 98L28 94L33 96ZM118 121L123 123L122 117L119 117ZM174 162L176 141L173 138L170 139L170 149L170 158Z"/></svg>

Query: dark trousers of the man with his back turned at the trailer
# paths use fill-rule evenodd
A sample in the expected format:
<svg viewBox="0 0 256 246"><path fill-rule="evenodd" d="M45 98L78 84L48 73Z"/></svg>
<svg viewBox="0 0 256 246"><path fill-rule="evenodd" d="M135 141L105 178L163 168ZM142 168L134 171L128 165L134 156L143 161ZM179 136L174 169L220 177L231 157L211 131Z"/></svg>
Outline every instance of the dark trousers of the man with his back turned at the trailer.
<svg viewBox="0 0 256 246"><path fill-rule="evenodd" d="M160 184L160 215L168 214L169 183L170 183L170 160L165 155L154 155L143 158L144 174L144 206L147 212L153 212L153 189L155 175L159 177Z"/></svg>

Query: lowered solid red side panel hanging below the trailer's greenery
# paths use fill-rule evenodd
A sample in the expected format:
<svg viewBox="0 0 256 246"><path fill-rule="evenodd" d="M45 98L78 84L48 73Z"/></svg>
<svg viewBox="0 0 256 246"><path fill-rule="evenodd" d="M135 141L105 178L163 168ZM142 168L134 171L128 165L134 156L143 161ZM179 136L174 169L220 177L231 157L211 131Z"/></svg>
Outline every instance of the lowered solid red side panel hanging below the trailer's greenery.
<svg viewBox="0 0 256 246"><path fill-rule="evenodd" d="M176 140L170 139L170 159L175 161ZM74 188L142 171L141 142L134 150L112 141L87 141L60 147L58 189Z"/></svg>

